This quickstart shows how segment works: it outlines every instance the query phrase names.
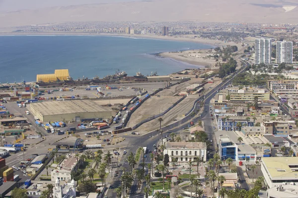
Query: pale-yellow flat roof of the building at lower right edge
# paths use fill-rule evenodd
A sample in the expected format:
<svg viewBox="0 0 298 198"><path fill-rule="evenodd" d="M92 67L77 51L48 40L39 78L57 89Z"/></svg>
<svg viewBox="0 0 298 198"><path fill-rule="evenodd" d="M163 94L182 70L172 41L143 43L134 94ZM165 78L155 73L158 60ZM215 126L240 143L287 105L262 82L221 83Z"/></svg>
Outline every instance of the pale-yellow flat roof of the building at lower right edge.
<svg viewBox="0 0 298 198"><path fill-rule="evenodd" d="M272 178L298 177L298 172L292 171L289 167L289 165L298 165L298 157L263 157L262 161Z"/></svg>

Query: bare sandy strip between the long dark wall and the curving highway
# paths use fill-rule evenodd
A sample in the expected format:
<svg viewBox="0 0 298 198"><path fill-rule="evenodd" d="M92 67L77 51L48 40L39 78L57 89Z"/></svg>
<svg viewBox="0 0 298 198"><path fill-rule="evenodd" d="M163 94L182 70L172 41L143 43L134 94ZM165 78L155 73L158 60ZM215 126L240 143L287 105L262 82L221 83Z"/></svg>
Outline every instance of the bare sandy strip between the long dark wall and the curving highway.
<svg viewBox="0 0 298 198"><path fill-rule="evenodd" d="M180 120L184 117L184 114L187 113L192 107L194 101L198 99L198 96L189 95L185 99L183 99L180 103L178 103L174 108L169 110L165 115L161 116L163 122L161 126L169 125L176 120ZM143 125L141 125L138 130L146 130L151 131L159 128L158 118L151 120Z"/></svg>

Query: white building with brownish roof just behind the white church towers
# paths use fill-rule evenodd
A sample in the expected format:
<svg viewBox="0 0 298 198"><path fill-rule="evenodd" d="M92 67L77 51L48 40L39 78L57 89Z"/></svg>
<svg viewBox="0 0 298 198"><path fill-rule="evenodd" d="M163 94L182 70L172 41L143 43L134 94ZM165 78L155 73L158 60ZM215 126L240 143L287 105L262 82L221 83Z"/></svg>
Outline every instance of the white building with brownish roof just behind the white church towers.
<svg viewBox="0 0 298 198"><path fill-rule="evenodd" d="M79 165L82 163L80 159L76 161L76 157L71 154L67 154L67 158L62 160L59 165L51 171L51 181L57 180L71 180L71 172L76 171Z"/></svg>

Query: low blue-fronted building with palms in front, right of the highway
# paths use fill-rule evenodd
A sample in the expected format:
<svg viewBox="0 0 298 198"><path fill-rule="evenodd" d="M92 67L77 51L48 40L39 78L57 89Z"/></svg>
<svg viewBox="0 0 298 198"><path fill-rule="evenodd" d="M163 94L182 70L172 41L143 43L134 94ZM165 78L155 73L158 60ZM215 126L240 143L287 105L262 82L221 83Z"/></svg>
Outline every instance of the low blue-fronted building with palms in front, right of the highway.
<svg viewBox="0 0 298 198"><path fill-rule="evenodd" d="M246 119L249 118L249 119ZM220 116L218 119L218 130L223 131L240 131L239 127L237 127L237 123L241 123L241 127L254 126L254 121L250 117L245 116Z"/></svg>

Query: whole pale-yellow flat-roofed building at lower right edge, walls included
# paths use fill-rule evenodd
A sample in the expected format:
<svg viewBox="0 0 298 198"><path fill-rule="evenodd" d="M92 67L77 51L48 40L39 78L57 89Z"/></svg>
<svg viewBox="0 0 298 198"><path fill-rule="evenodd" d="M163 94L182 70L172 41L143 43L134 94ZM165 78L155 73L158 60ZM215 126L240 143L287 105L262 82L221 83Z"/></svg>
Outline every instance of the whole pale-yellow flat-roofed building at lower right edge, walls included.
<svg viewBox="0 0 298 198"><path fill-rule="evenodd" d="M277 187L283 182L297 183L298 157L264 157L261 170L268 188Z"/></svg>

